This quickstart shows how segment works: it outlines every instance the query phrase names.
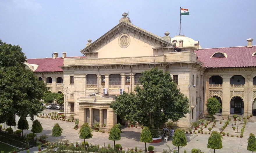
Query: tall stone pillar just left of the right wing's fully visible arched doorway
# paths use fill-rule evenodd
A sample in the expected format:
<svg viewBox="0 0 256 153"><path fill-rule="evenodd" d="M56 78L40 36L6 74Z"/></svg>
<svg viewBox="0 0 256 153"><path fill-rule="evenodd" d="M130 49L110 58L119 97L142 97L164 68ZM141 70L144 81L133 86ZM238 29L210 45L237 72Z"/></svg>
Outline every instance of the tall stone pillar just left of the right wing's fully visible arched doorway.
<svg viewBox="0 0 256 153"><path fill-rule="evenodd" d="M230 75L222 77L222 115L230 115Z"/></svg>

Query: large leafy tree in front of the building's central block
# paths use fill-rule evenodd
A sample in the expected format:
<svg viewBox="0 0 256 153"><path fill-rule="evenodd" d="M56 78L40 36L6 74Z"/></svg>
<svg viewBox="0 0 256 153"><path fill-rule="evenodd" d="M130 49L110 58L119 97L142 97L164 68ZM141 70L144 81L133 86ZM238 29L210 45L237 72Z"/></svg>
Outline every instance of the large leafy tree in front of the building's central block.
<svg viewBox="0 0 256 153"><path fill-rule="evenodd" d="M110 107L122 119L138 122L150 129L159 129L170 119L177 121L190 113L189 99L177 88L169 72L153 68L142 72L135 93L123 93L115 97ZM158 137L152 131L152 137Z"/></svg>

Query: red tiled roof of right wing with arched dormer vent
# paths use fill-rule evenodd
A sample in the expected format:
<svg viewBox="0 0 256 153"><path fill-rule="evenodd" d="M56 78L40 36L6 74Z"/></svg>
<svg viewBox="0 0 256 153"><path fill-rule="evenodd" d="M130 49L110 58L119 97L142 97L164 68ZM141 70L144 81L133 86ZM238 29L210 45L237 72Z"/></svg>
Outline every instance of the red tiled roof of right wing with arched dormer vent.
<svg viewBox="0 0 256 153"><path fill-rule="evenodd" d="M252 48L243 47L227 47L227 48L208 48L195 51L198 61L203 63L206 68L232 68L232 67L255 67L256 56L252 54L256 51L256 46ZM216 52L227 54L225 57L211 56Z"/></svg>

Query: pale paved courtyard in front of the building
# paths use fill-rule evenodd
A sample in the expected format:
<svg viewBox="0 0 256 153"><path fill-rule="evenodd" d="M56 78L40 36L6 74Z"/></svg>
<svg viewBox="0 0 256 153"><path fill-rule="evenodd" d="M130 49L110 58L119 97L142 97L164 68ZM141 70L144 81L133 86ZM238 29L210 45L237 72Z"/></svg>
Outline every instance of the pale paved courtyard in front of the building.
<svg viewBox="0 0 256 153"><path fill-rule="evenodd" d="M44 112L46 113L47 110L44 110ZM52 112L52 110L49 110L49 112ZM48 113L49 113L48 112ZM42 134L46 134L49 136L49 138L47 140L49 141L56 141L56 137L52 137L51 136L51 130L54 126L54 123L59 123L59 125L61 126L61 128L63 128L63 133L62 136L58 137L58 139L67 139L69 140L69 142L73 142L75 143L77 142L82 142L83 139L79 139L79 130L74 130L74 123L73 122L65 122L65 121L57 121L57 120L51 120L51 119L44 119L44 118L38 118L38 120L40 121L40 123L42 123L42 127L43 127L43 132L38 134L38 136L42 135ZM213 130L217 130L219 131L219 127L222 127L224 125L224 122L227 119L223 120L223 123L220 124L219 121L222 121L222 119L217 119L217 123L216 123L216 127L213 128ZM17 118L18 121L18 118ZM32 122L30 121L30 119L28 118L29 121L29 130L24 130L24 133L30 133L31 132L31 124ZM224 130L225 133L229 132L230 135L239 135L240 133L234 133L237 130L233 131L231 123L233 121L231 120L231 122L229 123L229 125L227 126L227 128ZM212 124L212 123L211 123ZM211 124L208 125L208 127L211 127ZM249 137L250 133L254 133L256 134L256 130L254 129L254 127L256 126L255 122L250 122L248 121L246 124L246 128L244 131L244 136L242 138L237 138L237 137L227 137L227 136L223 136L223 140L222 140L222 145L223 145L223 149L221 150L216 150L216 152L223 152L223 153L237 153L237 152L242 152L242 153L246 153L249 151L246 150L247 148L247 139ZM208 132L208 127L204 128L204 132ZM236 126L237 127L237 126ZM239 124L239 132L241 130L242 124ZM14 127L13 127L14 128ZM200 129L200 128L199 128ZM16 128L17 130L17 128ZM15 131L15 130L14 130ZM139 141L139 136L141 134L142 129L141 128L123 128L122 129L122 133L121 133L121 140L116 141L115 143L119 143L121 144L123 147L132 147L134 148L135 146L137 146L138 148L143 149L144 148L144 143ZM93 145L99 144L99 145L104 145L104 143L106 145L111 144L113 145L113 141L108 140L109 134L108 133L99 133L99 132L92 132L93 133L93 138L91 139L87 139L86 141L88 141L89 143L92 143ZM188 153L191 152L192 148L197 148L202 150L205 153L210 153L213 152L213 150L211 149L207 149L207 142L208 142L208 138L210 135L208 134L185 134L187 137L187 141L188 144L185 147L182 147L180 150L183 152L184 150L186 150ZM149 145L153 145L155 147L154 150L157 151L162 151L163 149L169 150L167 145L170 146L171 150L177 150L177 147L172 145L172 139L170 139L168 142L164 142L162 141L161 143L147 143L147 146Z"/></svg>

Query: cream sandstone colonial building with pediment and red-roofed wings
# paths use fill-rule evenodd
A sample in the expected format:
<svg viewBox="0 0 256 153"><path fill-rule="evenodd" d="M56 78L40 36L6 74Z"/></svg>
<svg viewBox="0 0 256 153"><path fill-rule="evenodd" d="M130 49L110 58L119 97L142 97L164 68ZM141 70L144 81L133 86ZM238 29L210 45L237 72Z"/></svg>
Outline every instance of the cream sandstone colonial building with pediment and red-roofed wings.
<svg viewBox="0 0 256 153"><path fill-rule="evenodd" d="M115 100L111 95L120 94L120 89L133 92L140 85L141 72L154 67L170 72L189 98L191 113L177 122L179 127L190 128L191 122L206 114L205 104L211 96L222 104L219 113L223 115L247 115L256 109L256 46L252 39L244 47L202 49L199 41L171 38L168 32L164 37L154 35L133 25L127 13L122 15L109 32L93 43L88 40L82 57L66 57L63 52L63 57L54 53L54 58L25 63L53 92L64 93L65 114L75 114L79 126L100 123L101 128L106 124L109 129L124 122L109 108ZM63 79L61 90L59 77Z"/></svg>

